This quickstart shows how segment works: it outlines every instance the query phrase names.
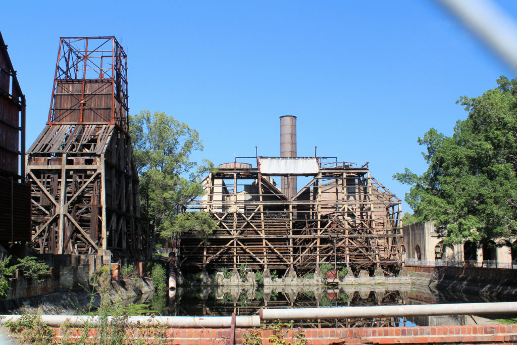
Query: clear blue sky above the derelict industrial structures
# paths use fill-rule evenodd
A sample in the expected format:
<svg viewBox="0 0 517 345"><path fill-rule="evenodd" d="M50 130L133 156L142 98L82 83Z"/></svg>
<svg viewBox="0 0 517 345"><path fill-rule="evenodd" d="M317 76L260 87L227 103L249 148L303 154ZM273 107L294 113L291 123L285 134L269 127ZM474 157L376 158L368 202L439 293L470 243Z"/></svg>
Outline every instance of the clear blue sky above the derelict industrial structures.
<svg viewBox="0 0 517 345"><path fill-rule="evenodd" d="M496 2L517 18L517 2ZM369 161L392 180L426 165L416 140L451 134L454 102L515 70L431 0L51 1L2 4L0 31L27 97L27 147L47 121L60 36L116 36L130 113L164 111L200 132L197 158L278 156L279 116L298 117L298 155ZM514 43L515 44L515 43ZM403 211L410 211L403 203Z"/></svg>

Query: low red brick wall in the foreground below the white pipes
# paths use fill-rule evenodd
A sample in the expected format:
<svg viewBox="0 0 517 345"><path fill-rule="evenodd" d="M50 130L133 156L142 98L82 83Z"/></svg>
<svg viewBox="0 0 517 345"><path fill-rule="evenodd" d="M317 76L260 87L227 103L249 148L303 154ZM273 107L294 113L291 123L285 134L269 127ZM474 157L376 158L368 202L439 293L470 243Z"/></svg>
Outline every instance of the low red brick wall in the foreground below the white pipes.
<svg viewBox="0 0 517 345"><path fill-rule="evenodd" d="M62 331L54 328L56 340L62 337ZM244 335L250 329L235 329L235 343L242 344ZM96 329L90 336L97 335ZM228 345L231 330L228 328L183 328L183 329L133 329L133 338L152 343L155 339L166 339L169 345ZM258 329L264 345L272 344L269 337L281 332L287 342L293 343L296 334L305 333L308 345L323 344L504 344L517 343L517 325L469 325L469 326L434 326L434 327L385 327L385 328L325 328L325 329ZM71 337L79 337L81 329L72 328Z"/></svg>

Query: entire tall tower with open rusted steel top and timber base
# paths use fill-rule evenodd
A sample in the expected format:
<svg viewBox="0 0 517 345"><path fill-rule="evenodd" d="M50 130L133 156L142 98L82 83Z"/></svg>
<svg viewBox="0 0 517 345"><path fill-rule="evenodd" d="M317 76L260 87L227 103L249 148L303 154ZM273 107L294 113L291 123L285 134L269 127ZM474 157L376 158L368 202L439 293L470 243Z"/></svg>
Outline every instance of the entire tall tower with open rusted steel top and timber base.
<svg viewBox="0 0 517 345"><path fill-rule="evenodd" d="M139 256L127 55L114 37L61 38L47 126L27 152L41 253Z"/></svg>

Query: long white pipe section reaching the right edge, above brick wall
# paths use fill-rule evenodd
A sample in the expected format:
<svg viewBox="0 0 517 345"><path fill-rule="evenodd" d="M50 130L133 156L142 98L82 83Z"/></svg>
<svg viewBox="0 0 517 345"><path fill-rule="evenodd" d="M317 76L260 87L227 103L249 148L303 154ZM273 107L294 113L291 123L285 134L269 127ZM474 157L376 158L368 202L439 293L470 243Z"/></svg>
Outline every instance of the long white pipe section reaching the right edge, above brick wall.
<svg viewBox="0 0 517 345"><path fill-rule="evenodd" d="M377 318L429 315L470 315L517 313L517 302L420 304L405 306L330 307L261 309L260 318L268 320L315 320Z"/></svg>

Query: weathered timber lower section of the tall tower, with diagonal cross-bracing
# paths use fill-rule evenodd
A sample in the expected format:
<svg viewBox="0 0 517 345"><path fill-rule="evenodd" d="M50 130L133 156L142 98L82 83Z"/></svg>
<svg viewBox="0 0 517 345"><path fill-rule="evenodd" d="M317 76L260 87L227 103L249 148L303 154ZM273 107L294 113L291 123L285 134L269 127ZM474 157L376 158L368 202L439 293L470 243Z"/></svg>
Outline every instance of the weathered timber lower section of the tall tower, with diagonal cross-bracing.
<svg viewBox="0 0 517 345"><path fill-rule="evenodd" d="M136 253L138 173L116 125L47 126L29 148L32 241L41 253Z"/></svg>

